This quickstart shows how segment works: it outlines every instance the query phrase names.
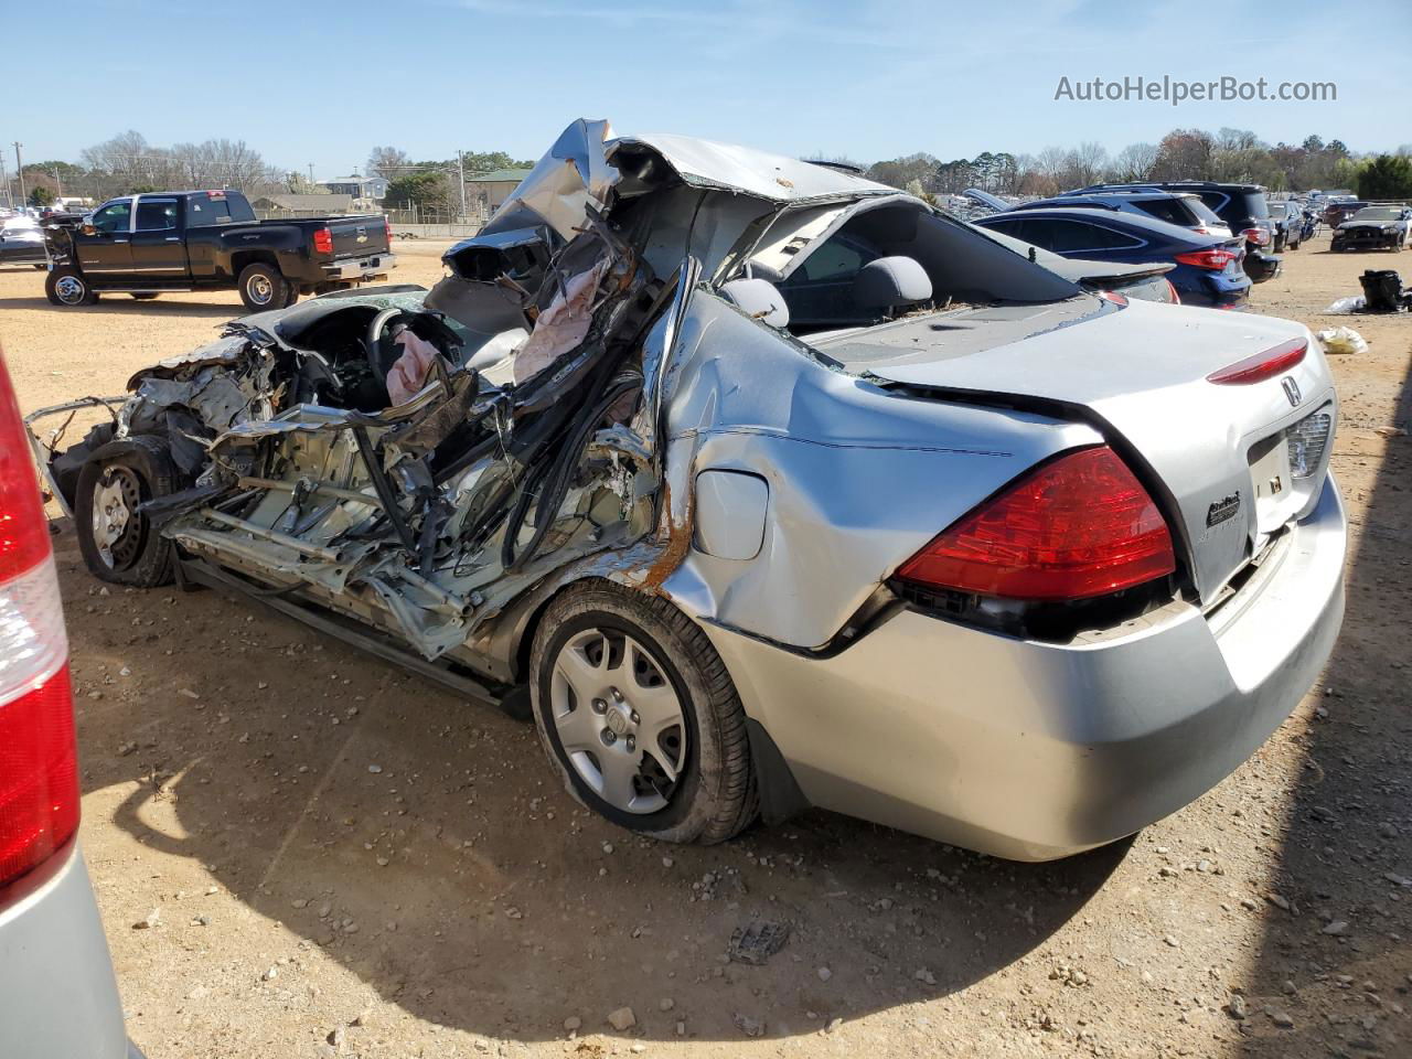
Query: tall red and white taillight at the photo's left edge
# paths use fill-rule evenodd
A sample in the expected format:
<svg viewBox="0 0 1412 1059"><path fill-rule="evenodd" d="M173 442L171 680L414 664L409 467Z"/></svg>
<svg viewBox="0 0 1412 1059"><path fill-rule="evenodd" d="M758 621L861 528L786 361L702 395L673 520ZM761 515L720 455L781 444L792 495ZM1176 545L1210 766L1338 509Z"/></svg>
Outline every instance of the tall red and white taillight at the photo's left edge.
<svg viewBox="0 0 1412 1059"><path fill-rule="evenodd" d="M0 354L0 887L79 825L68 640L40 486Z"/></svg>

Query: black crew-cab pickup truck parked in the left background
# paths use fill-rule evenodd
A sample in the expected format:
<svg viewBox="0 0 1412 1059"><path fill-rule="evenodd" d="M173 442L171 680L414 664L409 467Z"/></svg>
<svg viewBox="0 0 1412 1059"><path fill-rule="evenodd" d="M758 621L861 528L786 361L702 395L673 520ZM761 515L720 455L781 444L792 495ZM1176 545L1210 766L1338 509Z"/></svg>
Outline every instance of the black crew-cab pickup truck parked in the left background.
<svg viewBox="0 0 1412 1059"><path fill-rule="evenodd" d="M256 220L239 191L127 195L45 223L44 291L54 305L92 305L107 292L234 288L253 312L280 309L385 277L391 234L378 215Z"/></svg>

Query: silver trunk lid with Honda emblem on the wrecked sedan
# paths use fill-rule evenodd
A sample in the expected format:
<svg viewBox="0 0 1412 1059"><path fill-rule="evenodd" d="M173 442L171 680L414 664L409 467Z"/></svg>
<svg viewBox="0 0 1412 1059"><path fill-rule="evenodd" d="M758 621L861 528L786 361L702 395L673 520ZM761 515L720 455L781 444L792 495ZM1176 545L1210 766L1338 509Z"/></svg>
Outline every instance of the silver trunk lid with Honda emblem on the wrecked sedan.
<svg viewBox="0 0 1412 1059"><path fill-rule="evenodd" d="M1176 514L1195 587L1214 600L1317 500L1337 422L1329 366L1291 321L1138 301L1099 306L1084 298L932 315L812 345L878 380L957 400L1029 398L1093 421ZM1288 370L1243 385L1207 381L1292 339L1309 352Z"/></svg>

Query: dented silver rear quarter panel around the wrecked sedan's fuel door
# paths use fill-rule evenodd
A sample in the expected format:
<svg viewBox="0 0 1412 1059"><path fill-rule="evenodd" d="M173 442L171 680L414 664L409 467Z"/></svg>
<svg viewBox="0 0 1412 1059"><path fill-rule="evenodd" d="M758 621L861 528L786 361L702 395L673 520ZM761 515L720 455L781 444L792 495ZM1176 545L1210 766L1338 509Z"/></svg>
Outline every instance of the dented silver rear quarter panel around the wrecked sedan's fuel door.
<svg viewBox="0 0 1412 1059"><path fill-rule="evenodd" d="M770 484L770 511L755 559L690 549L662 590L698 617L799 648L826 644L1005 481L1100 441L1080 424L888 394L703 289L672 371L672 493L706 469L746 470Z"/></svg>

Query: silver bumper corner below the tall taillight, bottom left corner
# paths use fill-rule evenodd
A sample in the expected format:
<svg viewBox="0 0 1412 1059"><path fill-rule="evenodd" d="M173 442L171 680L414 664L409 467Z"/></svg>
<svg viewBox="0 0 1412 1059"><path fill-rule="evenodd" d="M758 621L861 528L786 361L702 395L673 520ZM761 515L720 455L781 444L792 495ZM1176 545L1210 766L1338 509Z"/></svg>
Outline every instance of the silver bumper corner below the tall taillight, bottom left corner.
<svg viewBox="0 0 1412 1059"><path fill-rule="evenodd" d="M0 895L0 1056L140 1059L78 844L55 860Z"/></svg>

